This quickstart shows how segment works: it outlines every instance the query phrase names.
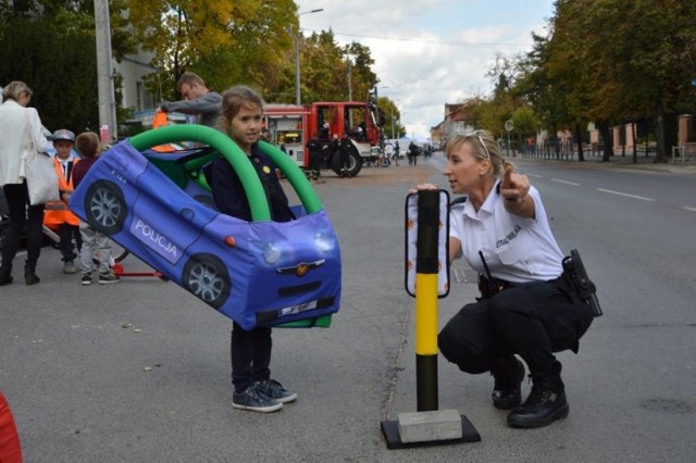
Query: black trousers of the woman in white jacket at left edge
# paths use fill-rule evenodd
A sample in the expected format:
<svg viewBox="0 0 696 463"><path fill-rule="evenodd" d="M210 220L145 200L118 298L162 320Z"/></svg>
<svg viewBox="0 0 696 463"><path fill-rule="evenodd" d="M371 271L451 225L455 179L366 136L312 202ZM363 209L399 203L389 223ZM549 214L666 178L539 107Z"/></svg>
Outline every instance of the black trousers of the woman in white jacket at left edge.
<svg viewBox="0 0 696 463"><path fill-rule="evenodd" d="M25 270L35 272L44 243L44 204L29 205L26 182L16 185L8 184L2 189L10 210L10 223L2 243L2 271L8 275L12 273L12 261L17 254L22 234L26 229Z"/></svg>

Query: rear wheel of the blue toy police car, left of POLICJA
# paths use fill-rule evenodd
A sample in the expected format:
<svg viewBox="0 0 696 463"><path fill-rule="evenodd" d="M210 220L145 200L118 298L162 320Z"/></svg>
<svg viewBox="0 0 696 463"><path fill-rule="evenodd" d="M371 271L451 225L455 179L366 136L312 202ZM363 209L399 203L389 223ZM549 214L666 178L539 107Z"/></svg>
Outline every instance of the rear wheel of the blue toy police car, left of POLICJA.
<svg viewBox="0 0 696 463"><path fill-rule="evenodd" d="M123 192L113 182L98 180L85 195L87 222L107 236L117 234L126 220Z"/></svg>

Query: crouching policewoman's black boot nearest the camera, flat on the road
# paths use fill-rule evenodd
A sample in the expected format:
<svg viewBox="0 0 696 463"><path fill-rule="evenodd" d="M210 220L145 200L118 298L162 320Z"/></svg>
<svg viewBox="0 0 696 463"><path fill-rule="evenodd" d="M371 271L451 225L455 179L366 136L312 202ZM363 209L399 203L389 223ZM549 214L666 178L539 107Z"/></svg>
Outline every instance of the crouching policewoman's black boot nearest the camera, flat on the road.
<svg viewBox="0 0 696 463"><path fill-rule="evenodd" d="M568 416L566 388L560 375L532 375L532 392L524 403L508 415L512 427L548 426Z"/></svg>

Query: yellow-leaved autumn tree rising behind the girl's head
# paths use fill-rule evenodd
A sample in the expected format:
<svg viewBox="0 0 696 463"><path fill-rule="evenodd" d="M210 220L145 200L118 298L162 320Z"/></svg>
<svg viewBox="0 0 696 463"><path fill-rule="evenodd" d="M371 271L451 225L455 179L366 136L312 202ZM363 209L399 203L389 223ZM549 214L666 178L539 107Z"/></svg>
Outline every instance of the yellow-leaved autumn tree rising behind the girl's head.
<svg viewBox="0 0 696 463"><path fill-rule="evenodd" d="M185 71L219 90L249 84L276 95L288 84L289 32L297 34L298 24L293 0L128 0L128 7L142 49L153 51L153 66L163 70L170 99L177 98L175 85Z"/></svg>

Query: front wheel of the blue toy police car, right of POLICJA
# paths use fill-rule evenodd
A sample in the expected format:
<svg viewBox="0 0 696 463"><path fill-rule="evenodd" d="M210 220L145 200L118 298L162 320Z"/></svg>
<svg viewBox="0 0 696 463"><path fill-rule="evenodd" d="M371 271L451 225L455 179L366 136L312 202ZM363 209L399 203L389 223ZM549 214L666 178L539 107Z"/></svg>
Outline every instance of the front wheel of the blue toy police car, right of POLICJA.
<svg viewBox="0 0 696 463"><path fill-rule="evenodd" d="M232 289L225 265L212 254L195 254L182 274L184 289L215 309L220 309Z"/></svg>

